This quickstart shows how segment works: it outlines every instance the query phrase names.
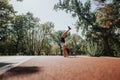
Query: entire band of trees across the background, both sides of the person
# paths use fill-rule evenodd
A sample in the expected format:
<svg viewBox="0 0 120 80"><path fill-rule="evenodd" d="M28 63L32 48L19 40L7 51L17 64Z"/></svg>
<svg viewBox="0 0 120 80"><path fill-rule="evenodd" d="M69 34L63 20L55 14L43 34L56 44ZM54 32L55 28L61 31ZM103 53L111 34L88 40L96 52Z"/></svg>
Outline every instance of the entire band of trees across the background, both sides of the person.
<svg viewBox="0 0 120 80"><path fill-rule="evenodd" d="M105 3L104 3L105 4ZM107 3L91 12L91 2L63 0L54 6L76 17L78 34L68 34L69 55L120 56L119 2ZM30 12L17 15L8 0L0 1L0 55L62 55L54 23L40 23Z"/></svg>

